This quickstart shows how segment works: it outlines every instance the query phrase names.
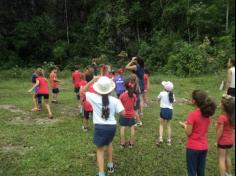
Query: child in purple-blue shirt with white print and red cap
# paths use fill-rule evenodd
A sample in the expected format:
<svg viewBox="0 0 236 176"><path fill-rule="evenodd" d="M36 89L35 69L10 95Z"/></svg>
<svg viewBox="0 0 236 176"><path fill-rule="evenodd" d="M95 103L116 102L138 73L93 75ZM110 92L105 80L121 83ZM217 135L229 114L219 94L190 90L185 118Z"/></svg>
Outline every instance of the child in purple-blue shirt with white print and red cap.
<svg viewBox="0 0 236 176"><path fill-rule="evenodd" d="M125 78L123 76L123 70L117 70L117 76L115 77L115 84L116 84L116 95L119 98L122 93L125 92Z"/></svg>

